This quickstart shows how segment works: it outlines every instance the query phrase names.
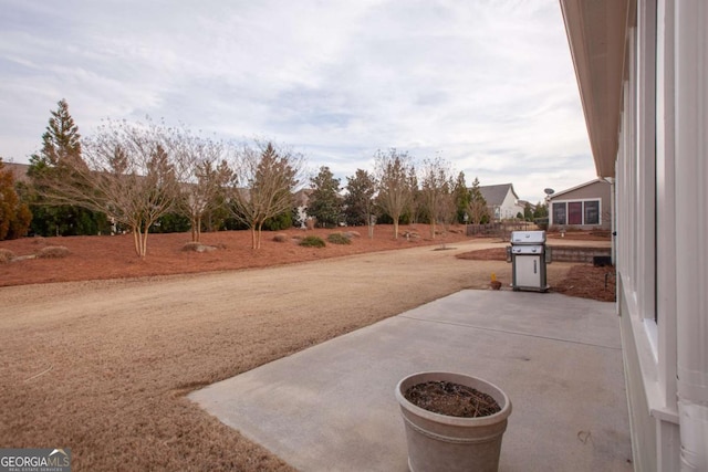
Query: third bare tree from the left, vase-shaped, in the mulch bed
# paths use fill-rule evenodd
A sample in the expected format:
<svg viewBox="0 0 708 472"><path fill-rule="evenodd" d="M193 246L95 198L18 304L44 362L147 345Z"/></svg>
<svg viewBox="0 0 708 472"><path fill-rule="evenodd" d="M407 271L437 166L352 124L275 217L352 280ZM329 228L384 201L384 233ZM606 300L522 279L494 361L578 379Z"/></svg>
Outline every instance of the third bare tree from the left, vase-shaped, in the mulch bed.
<svg viewBox="0 0 708 472"><path fill-rule="evenodd" d="M263 223L290 211L301 183L304 159L268 143L246 145L235 164L235 186L229 195L233 217L251 230L251 247L260 249Z"/></svg>

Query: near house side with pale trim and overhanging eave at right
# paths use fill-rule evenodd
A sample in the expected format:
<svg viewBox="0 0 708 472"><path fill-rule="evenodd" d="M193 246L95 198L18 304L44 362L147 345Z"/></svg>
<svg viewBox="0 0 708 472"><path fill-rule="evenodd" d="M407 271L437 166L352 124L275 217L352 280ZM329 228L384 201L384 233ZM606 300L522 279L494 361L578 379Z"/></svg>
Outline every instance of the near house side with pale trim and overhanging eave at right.
<svg viewBox="0 0 708 472"><path fill-rule="evenodd" d="M614 182L634 469L707 471L708 2L560 2L597 176Z"/></svg>

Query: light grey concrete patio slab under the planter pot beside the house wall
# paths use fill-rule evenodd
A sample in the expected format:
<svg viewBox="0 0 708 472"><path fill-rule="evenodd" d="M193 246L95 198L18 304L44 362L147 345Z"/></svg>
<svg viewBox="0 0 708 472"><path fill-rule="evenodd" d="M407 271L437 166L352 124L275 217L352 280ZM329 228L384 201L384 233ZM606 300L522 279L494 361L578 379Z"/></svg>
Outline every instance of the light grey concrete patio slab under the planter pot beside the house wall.
<svg viewBox="0 0 708 472"><path fill-rule="evenodd" d="M299 470L406 471L394 388L421 370L511 398L501 471L633 470L615 306L559 294L458 292L189 398Z"/></svg>

